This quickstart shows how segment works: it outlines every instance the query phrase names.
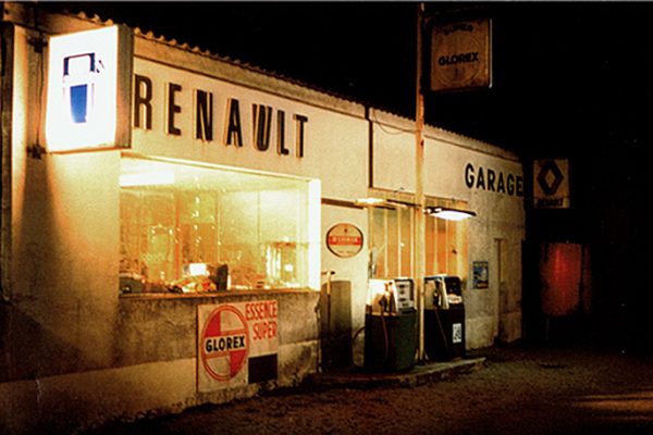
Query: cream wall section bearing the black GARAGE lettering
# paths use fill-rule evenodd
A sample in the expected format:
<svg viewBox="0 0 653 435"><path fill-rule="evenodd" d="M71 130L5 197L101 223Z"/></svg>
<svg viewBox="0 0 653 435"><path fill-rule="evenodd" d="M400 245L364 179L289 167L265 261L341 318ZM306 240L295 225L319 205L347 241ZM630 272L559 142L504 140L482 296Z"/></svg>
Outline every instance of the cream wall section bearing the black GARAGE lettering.
<svg viewBox="0 0 653 435"><path fill-rule="evenodd" d="M372 111L374 126L374 187L414 192L415 123L384 112ZM468 258L471 275L473 261L488 261L490 286L473 289L466 283L466 340L468 348L491 346L494 338L513 341L521 337L521 241L525 239L523 197L508 194L508 174L522 177L517 157L494 146L427 127L424 149L424 195L466 201L477 216L469 220ZM471 163L482 185L466 182ZM495 175L494 191L489 189L488 169ZM497 191L498 174L504 190ZM484 187L483 187L484 186ZM513 185L516 189L516 186ZM497 239L501 239L502 274L498 278Z"/></svg>

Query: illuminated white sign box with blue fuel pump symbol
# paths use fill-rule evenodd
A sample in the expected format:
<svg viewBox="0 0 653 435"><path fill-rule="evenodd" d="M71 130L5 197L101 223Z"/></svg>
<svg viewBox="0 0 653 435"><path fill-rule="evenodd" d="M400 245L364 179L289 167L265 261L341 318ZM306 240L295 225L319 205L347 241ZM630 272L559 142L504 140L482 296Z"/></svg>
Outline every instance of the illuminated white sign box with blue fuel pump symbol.
<svg viewBox="0 0 653 435"><path fill-rule="evenodd" d="M50 37L48 151L128 148L133 36L125 26Z"/></svg>

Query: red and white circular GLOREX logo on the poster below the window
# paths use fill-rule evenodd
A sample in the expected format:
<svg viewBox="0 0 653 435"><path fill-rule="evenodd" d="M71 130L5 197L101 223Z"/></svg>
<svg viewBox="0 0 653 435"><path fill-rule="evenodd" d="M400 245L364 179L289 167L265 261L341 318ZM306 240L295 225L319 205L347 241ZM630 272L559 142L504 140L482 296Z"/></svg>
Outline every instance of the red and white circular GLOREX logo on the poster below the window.
<svg viewBox="0 0 653 435"><path fill-rule="evenodd" d="M243 313L232 306L211 312L201 333L200 357L207 373L218 381L230 381L245 363L249 332Z"/></svg>

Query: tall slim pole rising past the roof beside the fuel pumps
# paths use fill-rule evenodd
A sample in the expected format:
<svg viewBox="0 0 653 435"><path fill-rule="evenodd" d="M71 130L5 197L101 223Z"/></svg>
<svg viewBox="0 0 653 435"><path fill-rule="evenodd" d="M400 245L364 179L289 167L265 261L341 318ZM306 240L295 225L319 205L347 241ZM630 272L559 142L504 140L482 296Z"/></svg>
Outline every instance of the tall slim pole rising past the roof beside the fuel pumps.
<svg viewBox="0 0 653 435"><path fill-rule="evenodd" d="M424 191L423 191L423 163L424 163L424 97L422 95L422 25L423 25L424 4L417 4L417 71L416 71L416 113L415 113L415 199L417 202L416 212L416 244L415 244L415 288L417 291L418 309L418 361L424 361L424 269L426 269L426 246L424 246Z"/></svg>

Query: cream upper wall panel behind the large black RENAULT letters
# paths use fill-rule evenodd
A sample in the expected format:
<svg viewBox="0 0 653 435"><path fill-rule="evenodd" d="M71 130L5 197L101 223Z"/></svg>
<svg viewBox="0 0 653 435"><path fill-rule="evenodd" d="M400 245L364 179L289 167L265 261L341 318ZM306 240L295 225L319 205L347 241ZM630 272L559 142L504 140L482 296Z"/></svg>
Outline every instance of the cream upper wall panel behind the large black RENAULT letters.
<svg viewBox="0 0 653 435"><path fill-rule="evenodd" d="M361 198L367 194L368 172L368 125L357 114L344 114L315 104L282 98L234 85L206 75L201 69L188 72L167 65L135 59L135 73L152 80L153 122L152 129L133 129L132 150L144 156L158 156L198 162L221 164L238 169L318 178L322 182L325 198ZM185 65L192 69L194 65ZM199 75L202 72L205 75ZM209 73L210 74L210 71ZM181 136L165 133L167 86L182 86L177 104L182 111L176 125ZM194 89L213 92L215 136L211 142L194 139ZM224 145L226 105L230 98L239 103L243 132L243 148ZM271 147L259 151L252 142L252 104L274 108ZM285 146L289 156L279 156L276 147L278 110L285 113ZM294 114L308 117L304 125L304 157L298 158L295 149L296 122Z"/></svg>

